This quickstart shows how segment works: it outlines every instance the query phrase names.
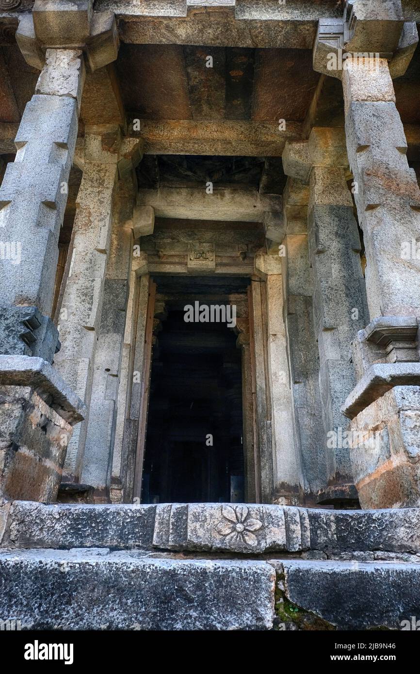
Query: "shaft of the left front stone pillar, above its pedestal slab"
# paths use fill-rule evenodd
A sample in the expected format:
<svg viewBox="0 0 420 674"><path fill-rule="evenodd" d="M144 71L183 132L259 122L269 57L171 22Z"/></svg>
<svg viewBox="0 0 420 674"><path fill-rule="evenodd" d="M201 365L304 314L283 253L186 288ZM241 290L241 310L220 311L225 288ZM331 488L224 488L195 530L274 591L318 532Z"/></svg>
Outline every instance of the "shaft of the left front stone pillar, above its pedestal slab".
<svg viewBox="0 0 420 674"><path fill-rule="evenodd" d="M83 82L80 51L47 49L16 135L16 159L5 171L0 225L9 255L0 265L2 354L51 362L57 348L49 315Z"/></svg>

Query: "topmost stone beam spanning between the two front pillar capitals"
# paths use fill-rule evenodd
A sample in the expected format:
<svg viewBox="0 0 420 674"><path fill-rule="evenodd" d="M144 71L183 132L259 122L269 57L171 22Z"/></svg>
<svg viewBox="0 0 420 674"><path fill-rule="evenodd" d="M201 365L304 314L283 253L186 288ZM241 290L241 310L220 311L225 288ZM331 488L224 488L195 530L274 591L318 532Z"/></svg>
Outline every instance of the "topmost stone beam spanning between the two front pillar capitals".
<svg viewBox="0 0 420 674"><path fill-rule="evenodd" d="M123 42L207 44L218 47L311 49L320 16L339 16L335 0L127 3L96 1L95 11L113 11Z"/></svg>

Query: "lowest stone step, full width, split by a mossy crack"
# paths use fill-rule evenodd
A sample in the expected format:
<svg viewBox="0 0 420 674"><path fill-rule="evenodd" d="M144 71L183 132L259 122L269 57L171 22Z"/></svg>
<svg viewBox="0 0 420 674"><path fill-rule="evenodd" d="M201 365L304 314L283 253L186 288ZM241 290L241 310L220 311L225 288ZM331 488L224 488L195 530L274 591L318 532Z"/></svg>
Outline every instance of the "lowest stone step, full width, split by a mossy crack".
<svg viewBox="0 0 420 674"><path fill-rule="evenodd" d="M410 563L3 549L0 578L0 617L22 630L401 630L420 617Z"/></svg>

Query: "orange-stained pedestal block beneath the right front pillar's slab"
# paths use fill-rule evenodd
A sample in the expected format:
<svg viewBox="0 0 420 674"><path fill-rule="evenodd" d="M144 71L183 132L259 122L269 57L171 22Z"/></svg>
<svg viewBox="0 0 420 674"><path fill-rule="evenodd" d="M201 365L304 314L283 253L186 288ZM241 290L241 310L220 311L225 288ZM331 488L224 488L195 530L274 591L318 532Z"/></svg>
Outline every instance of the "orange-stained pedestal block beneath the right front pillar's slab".
<svg viewBox="0 0 420 674"><path fill-rule="evenodd" d="M350 430L361 507L419 507L420 387L394 386L359 412Z"/></svg>

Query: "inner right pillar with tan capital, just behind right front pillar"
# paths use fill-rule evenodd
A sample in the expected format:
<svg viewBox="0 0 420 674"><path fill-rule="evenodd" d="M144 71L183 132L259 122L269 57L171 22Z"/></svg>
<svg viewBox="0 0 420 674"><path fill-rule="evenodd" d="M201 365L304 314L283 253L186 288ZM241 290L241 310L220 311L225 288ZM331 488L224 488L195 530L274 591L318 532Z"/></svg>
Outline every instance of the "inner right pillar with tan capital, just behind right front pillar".
<svg viewBox="0 0 420 674"><path fill-rule="evenodd" d="M347 187L343 129L316 127L308 142L288 143L284 172L309 181L308 237L313 270L313 323L320 353L320 393L327 487L320 501L357 499L348 421L341 406L355 384L349 344L365 324L360 237Z"/></svg>

